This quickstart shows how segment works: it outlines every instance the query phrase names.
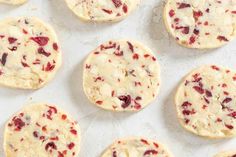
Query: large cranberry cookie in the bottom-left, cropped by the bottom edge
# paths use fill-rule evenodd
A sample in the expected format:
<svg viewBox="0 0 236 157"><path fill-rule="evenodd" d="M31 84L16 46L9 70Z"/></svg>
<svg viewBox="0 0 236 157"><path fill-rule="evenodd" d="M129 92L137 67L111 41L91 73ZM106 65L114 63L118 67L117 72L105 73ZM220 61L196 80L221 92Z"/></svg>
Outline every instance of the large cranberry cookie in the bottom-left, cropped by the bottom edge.
<svg viewBox="0 0 236 157"><path fill-rule="evenodd" d="M56 106L26 106L5 127L6 157L76 157L79 149L77 122Z"/></svg>

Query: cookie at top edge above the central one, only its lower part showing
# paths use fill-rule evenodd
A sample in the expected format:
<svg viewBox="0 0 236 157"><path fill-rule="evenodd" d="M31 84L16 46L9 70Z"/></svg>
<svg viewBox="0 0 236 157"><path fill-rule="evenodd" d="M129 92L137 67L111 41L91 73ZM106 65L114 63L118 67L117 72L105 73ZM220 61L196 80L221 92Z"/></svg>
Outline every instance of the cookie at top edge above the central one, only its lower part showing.
<svg viewBox="0 0 236 157"><path fill-rule="evenodd" d="M68 7L86 21L120 21L130 14L141 0L65 0Z"/></svg>

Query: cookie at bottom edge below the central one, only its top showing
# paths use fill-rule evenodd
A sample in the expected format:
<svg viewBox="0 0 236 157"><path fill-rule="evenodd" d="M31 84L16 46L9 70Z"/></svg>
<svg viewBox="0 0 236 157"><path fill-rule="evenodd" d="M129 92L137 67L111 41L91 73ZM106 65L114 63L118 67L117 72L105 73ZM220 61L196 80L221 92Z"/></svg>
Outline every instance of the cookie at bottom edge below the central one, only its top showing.
<svg viewBox="0 0 236 157"><path fill-rule="evenodd" d="M101 157L172 157L172 155L156 141L128 138L114 142Z"/></svg>

